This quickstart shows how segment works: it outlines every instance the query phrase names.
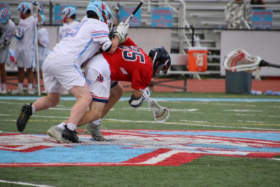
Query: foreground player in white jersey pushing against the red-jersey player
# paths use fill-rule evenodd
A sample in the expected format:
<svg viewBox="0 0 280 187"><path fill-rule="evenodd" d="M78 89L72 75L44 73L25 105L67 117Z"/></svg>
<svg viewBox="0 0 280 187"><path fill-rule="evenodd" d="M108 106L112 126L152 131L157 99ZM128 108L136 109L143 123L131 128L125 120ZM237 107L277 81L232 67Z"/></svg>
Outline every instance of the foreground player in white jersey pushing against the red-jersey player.
<svg viewBox="0 0 280 187"><path fill-rule="evenodd" d="M69 122L63 127L62 136L71 142L80 142L75 129L92 101L88 87L90 81L82 74L81 65L100 48L108 53L114 53L119 41L124 40L128 30L128 25L119 24L115 31L118 37L110 40L108 25L112 14L110 7L104 2L92 0L86 8L86 14L88 18L73 28L44 61L44 86L48 91L48 96L39 98L33 105L30 103L21 108L16 122L18 131L24 130L27 121L35 111L56 106L64 87L77 98L77 102L70 112Z"/></svg>

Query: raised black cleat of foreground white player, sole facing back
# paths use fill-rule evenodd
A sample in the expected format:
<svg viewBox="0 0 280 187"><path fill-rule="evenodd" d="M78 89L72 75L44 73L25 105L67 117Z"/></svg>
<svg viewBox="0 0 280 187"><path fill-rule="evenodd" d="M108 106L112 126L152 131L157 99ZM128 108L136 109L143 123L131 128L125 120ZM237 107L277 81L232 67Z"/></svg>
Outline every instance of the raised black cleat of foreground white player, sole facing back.
<svg viewBox="0 0 280 187"><path fill-rule="evenodd" d="M22 132L26 126L26 123L29 121L30 116L32 115L32 103L30 105L25 104L21 108L20 116L16 120L16 127L19 132Z"/></svg>

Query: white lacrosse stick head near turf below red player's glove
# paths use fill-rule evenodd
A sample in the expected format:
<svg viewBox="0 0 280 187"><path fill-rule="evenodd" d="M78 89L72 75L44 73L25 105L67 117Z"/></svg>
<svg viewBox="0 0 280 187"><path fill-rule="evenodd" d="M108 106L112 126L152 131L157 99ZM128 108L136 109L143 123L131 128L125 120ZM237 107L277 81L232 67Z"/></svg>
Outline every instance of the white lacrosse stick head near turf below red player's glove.
<svg viewBox="0 0 280 187"><path fill-rule="evenodd" d="M165 122L168 119L170 110L157 104L155 99L148 98L148 106L154 113L156 122Z"/></svg>

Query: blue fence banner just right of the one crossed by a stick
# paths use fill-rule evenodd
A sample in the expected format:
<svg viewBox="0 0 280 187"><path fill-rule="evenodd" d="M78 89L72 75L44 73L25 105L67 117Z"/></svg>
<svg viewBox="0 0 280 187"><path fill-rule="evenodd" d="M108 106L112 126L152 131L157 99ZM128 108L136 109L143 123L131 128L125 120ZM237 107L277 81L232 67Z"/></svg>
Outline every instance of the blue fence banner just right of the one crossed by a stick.
<svg viewBox="0 0 280 187"><path fill-rule="evenodd" d="M152 8L152 26L173 26L173 9L158 7Z"/></svg>

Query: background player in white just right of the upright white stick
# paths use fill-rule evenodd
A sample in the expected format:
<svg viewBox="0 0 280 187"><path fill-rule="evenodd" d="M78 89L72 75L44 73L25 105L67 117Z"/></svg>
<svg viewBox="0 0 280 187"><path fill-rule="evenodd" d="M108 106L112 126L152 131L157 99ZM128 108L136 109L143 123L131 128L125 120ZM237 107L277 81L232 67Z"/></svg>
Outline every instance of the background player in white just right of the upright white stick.
<svg viewBox="0 0 280 187"><path fill-rule="evenodd" d="M42 22L45 22L45 16L41 15ZM42 71L42 66L43 62L46 59L48 55L48 47L49 47L49 34L47 29L41 25L37 26L37 42L38 42L38 61L39 61L39 70L40 70L40 76L41 78L43 77L43 71ZM37 66L37 65L36 65ZM35 71L35 86L34 86L34 92L38 91L38 79L37 79L37 67L35 66L34 71ZM43 90L44 91L44 90ZM42 93L47 93L46 91Z"/></svg>

